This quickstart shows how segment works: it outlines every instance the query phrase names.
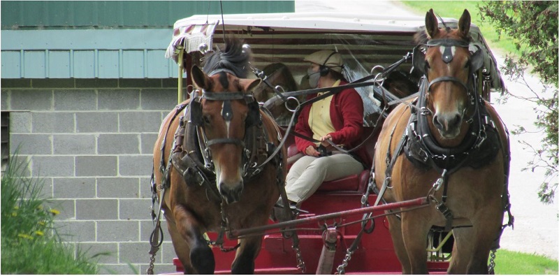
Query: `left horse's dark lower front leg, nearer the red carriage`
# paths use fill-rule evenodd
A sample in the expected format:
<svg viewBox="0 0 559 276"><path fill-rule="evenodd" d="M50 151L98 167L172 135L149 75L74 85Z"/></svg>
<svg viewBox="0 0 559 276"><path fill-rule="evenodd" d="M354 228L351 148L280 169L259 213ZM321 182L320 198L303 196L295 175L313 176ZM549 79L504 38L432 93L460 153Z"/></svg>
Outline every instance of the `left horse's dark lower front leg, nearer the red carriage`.
<svg viewBox="0 0 559 276"><path fill-rule="evenodd" d="M260 252L262 237L250 237L240 240L240 247L231 264L231 274L254 274L254 260Z"/></svg>

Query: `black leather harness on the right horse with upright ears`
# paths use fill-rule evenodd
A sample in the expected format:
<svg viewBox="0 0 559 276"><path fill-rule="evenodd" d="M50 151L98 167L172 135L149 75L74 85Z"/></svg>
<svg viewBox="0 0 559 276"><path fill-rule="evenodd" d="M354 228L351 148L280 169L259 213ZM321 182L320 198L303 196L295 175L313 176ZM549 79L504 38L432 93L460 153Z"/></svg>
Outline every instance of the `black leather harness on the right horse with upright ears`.
<svg viewBox="0 0 559 276"><path fill-rule="evenodd" d="M444 62L449 63L452 60L452 54L449 50L450 47L469 47L468 43L464 41L454 41L449 39L439 39L428 41L426 46L447 46L444 50L442 59ZM422 71L425 66L423 52L419 50L418 45L414 49L414 68L419 68ZM481 52L481 49L478 49ZM450 55L450 56L449 56ZM510 149L509 149L509 132L505 128L506 141L502 143L497 128L495 127L494 118L487 112L484 99L477 93L477 87L474 85L476 83L474 71L480 68L482 64L482 59L480 53L474 53L470 58L470 73L467 84L458 80L457 78L451 76L442 76L440 78L435 78L428 82L426 76L424 75L420 82L420 92L419 97L412 105L411 108L412 116L407 122L407 128L405 129L400 142L395 147L392 153L390 147L386 152L386 179L382 185L382 189L379 192L379 197L382 197L386 187L390 185L391 173L396 159L400 154L405 153L405 157L416 166L416 168L421 168L423 170L428 170L433 168L441 173L441 177L435 182L437 187L443 187L442 201L437 202L437 210L439 210L442 215L447 220L445 226L445 231L450 231L452 228L453 214L448 208L447 201L447 186L448 179L452 173L455 173L460 168L464 166L470 166L472 168L480 168L486 164L491 163L497 156L499 150L502 150L504 158L504 184L502 189L502 210L507 212L509 215L509 222L501 227L498 237L493 242L493 248L499 247L499 240L502 231L506 226L514 226L514 217L510 212L510 202L509 202L509 191L508 191L508 179L509 179L509 160L510 160ZM425 73L424 71L422 71ZM473 112L470 118L466 122L470 123L470 128L467 130L467 135L457 147L441 147L438 145L436 140L430 134L430 129L428 128L427 117L431 113L426 106L426 96L430 92L430 87L437 82L455 82L461 87L465 88L467 92L468 99L470 100L470 108L473 108ZM500 118L496 118L500 119ZM504 126L504 124L502 124ZM390 139L392 139L392 130ZM508 161L507 161L508 160ZM437 188L438 189L438 188ZM377 203L378 204L378 199Z"/></svg>

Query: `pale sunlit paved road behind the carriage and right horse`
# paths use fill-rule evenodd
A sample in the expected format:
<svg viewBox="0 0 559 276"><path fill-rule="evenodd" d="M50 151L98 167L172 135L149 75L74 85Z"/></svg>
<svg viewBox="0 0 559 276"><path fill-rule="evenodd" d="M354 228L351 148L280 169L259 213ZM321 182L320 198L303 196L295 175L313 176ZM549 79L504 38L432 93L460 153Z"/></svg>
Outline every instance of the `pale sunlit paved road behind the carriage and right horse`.
<svg viewBox="0 0 559 276"><path fill-rule="evenodd" d="M355 13L361 10L363 13L382 13L383 15L419 15L424 13L414 13L398 1L295 1L296 13L302 12L342 12ZM444 16L444 15L443 15ZM475 23L475 22L474 22ZM490 45L491 46L491 45ZM503 64L503 56L497 52L493 53L498 59L498 64ZM509 91L516 94L525 92L524 85L505 80ZM530 86L537 87L535 91L540 91L537 78L528 77ZM535 120L533 108L535 105L511 99L506 104L496 103L495 99L499 94L492 94L492 101L495 108L500 113L502 119L510 129L515 129L515 125L524 126L526 129L535 129L532 122ZM525 140L531 145L540 143L541 134L525 134L522 136L511 136L511 175L509 177L509 192L511 194L512 212L515 217L514 231L511 228L505 229L501 238L501 247L514 251L535 253L558 259L558 233L559 217L558 203L544 205L537 198L537 188L544 180L544 171L535 172L521 171L526 166L526 162L532 159L532 154L527 152L518 143L518 140ZM556 180L557 181L557 180Z"/></svg>

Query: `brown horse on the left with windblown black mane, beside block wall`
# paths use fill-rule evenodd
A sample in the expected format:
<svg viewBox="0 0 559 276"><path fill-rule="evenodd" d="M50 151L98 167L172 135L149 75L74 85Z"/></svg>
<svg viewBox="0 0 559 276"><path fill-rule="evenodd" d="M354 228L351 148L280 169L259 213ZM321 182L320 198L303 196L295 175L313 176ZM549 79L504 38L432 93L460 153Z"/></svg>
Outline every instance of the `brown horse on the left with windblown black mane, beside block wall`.
<svg viewBox="0 0 559 276"><path fill-rule="evenodd" d="M249 57L241 45L229 41L225 52L206 57L203 70L191 69L201 94L169 113L154 146L155 184L167 190L164 198L158 190L158 197L189 274L215 272L205 232L223 235L268 223L286 175L286 152L274 150L277 126L254 101L252 89L261 81L245 78ZM239 240L231 273L254 273L261 242L259 236Z"/></svg>

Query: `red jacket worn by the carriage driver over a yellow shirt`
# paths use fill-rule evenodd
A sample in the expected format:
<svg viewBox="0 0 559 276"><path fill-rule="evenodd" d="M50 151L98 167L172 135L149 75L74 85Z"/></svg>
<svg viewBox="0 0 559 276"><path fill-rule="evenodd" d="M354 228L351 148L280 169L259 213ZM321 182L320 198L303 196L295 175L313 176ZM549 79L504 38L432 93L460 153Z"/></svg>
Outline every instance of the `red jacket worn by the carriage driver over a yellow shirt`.
<svg viewBox="0 0 559 276"><path fill-rule="evenodd" d="M347 85L347 82L340 82L341 85ZM313 99L317 94L310 94L307 100ZM307 105L301 110L295 125L295 131L305 136L312 137L312 131L309 126L309 114L312 105ZM346 145L348 149L353 149L359 145L361 141L361 133L363 132L363 100L361 96L353 88L344 89L342 92L334 94L330 103L330 119L334 129L332 141L336 145ZM297 150L305 154L305 149L310 145L315 146L309 140L295 136L295 144ZM354 152L365 163L365 168L370 168L372 160L365 151L365 147L360 147Z"/></svg>

